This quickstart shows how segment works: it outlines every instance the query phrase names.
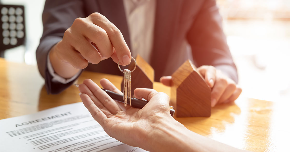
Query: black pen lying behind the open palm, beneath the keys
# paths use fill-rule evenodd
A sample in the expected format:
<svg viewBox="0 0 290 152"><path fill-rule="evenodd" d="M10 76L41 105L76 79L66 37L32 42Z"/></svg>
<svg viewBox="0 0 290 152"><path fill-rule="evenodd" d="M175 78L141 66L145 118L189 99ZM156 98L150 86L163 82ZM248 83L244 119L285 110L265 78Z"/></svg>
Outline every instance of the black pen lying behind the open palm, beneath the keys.
<svg viewBox="0 0 290 152"><path fill-rule="evenodd" d="M79 87L79 84L75 84L75 86ZM104 90L113 100L124 103L123 95L117 94L113 91L103 89L103 88L102 88L102 90ZM142 109L148 103L148 101L145 100L144 98L143 98L143 100L140 100L137 98L131 98L131 101L132 101L131 106L134 108L139 108L139 109ZM127 105L129 105L129 104L130 103L127 102ZM174 113L175 113L175 110L173 109L173 107L172 107L172 109L170 108L170 114L172 117L174 116Z"/></svg>

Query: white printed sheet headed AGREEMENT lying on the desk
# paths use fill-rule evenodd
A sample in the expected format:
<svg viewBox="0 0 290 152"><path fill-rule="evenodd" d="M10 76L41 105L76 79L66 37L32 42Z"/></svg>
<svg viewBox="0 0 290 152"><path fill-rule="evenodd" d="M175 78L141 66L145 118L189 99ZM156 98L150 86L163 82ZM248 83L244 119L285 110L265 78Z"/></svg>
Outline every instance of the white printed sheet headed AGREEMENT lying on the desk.
<svg viewBox="0 0 290 152"><path fill-rule="evenodd" d="M82 102L0 120L0 151L145 151L106 134Z"/></svg>

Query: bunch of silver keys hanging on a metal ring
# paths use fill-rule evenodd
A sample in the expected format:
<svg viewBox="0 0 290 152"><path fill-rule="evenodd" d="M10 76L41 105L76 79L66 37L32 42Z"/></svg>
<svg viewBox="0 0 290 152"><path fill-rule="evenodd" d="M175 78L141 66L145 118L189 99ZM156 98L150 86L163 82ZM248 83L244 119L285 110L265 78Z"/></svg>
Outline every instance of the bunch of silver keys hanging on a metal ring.
<svg viewBox="0 0 290 152"><path fill-rule="evenodd" d="M118 62L118 67L119 67L120 71L122 71L124 73L123 100L124 100L125 107L127 106L127 99L128 98L129 98L130 106L131 106L131 72L133 72L137 66L136 60L133 57L132 57L132 59L135 62L135 67L132 71L129 69L124 69L124 71L123 71L119 65L120 61Z"/></svg>

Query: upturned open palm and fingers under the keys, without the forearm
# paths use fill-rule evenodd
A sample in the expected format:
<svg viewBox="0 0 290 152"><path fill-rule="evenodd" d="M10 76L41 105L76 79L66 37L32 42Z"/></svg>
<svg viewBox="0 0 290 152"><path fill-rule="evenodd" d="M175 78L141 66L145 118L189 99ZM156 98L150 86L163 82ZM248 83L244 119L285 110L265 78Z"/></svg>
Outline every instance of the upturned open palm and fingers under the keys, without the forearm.
<svg viewBox="0 0 290 152"><path fill-rule="evenodd" d="M107 79L102 79L100 83L104 89L123 94ZM154 129L156 131L157 126L160 127L163 123L180 125L170 115L169 97L165 93L158 93L153 89L135 89L136 98L149 101L145 107L137 109L130 106L124 107L124 103L118 106L90 79L84 80L83 84L79 85L79 91L85 107L106 133L131 146L151 149L149 144L152 144L152 139L154 139L152 132Z"/></svg>

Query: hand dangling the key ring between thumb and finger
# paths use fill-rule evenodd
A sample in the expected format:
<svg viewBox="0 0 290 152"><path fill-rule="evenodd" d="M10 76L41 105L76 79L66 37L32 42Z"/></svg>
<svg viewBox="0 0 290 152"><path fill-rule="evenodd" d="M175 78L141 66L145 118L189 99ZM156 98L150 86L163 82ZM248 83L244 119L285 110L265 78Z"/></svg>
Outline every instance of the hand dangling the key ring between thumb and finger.
<svg viewBox="0 0 290 152"><path fill-rule="evenodd" d="M116 63L128 65L131 52L120 30L100 13L93 13L86 18L77 18L64 32L63 39L50 51L50 60L56 73L62 74L67 66L60 69L59 61L84 69L88 63L97 64L111 57ZM63 64L61 64L63 65Z"/></svg>

